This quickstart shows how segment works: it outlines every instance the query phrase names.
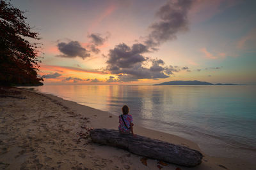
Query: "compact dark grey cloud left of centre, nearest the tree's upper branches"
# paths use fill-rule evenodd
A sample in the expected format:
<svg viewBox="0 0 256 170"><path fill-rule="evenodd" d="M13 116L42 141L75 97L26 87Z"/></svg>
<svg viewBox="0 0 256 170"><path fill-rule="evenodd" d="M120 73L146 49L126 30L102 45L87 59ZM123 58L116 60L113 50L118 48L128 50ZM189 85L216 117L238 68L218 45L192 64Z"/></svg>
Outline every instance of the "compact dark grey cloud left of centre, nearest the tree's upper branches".
<svg viewBox="0 0 256 170"><path fill-rule="evenodd" d="M78 41L70 41L68 43L58 43L58 49L64 55L58 55L58 57L67 57L67 58L74 58L74 57L81 57L85 59L86 57L90 57L90 53L83 48Z"/></svg>

